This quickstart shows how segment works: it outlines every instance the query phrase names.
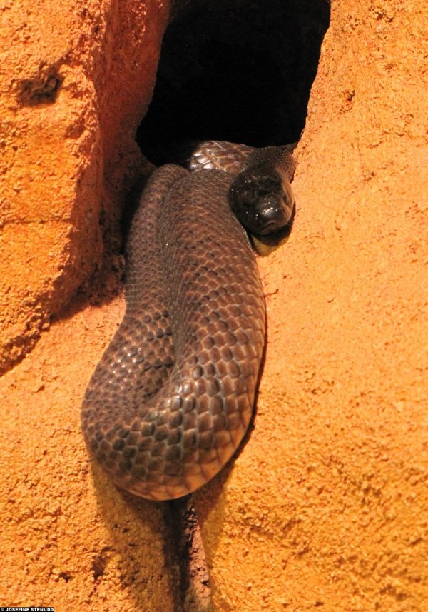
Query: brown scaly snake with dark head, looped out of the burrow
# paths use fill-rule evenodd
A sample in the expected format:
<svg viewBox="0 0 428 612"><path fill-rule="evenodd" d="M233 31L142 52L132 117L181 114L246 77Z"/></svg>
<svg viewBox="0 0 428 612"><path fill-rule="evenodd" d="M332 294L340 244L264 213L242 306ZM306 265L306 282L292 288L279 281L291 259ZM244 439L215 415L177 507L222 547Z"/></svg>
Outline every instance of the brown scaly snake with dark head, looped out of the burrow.
<svg viewBox="0 0 428 612"><path fill-rule="evenodd" d="M83 401L91 455L118 486L154 500L213 478L253 412L265 304L230 209L265 234L294 206L290 149L204 146L198 171L161 166L143 190L126 246L126 313Z"/></svg>

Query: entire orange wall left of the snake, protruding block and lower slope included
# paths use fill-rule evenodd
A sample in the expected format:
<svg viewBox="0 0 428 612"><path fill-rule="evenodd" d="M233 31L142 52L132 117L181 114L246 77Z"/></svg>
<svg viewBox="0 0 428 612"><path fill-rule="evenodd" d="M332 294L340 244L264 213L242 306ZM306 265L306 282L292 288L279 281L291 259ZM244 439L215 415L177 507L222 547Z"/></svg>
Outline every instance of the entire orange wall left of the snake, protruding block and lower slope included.
<svg viewBox="0 0 428 612"><path fill-rule="evenodd" d="M168 3L18 0L0 19L0 603L173 611L163 509L94 478L79 426L123 313L118 217ZM102 266L84 308L76 290Z"/></svg>

